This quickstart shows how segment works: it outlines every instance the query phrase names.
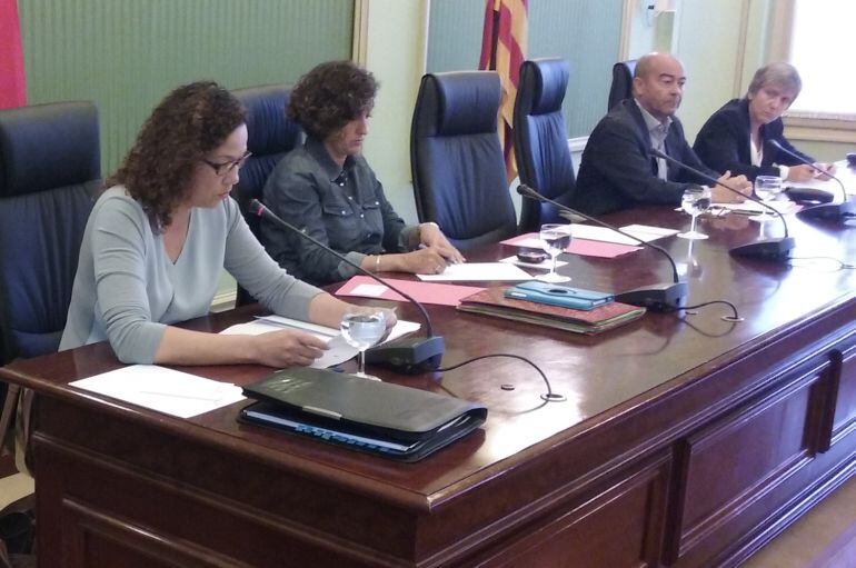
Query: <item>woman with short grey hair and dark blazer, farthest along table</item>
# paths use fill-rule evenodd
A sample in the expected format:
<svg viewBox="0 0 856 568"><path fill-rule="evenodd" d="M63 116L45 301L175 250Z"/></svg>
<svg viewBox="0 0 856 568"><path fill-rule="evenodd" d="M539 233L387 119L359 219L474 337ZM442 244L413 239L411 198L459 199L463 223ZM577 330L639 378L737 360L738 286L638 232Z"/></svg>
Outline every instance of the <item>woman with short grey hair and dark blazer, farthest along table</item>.
<svg viewBox="0 0 856 568"><path fill-rule="evenodd" d="M785 138L782 114L799 94L803 82L789 63L769 63L755 72L748 92L717 110L696 137L693 149L708 167L730 170L749 180L757 176L779 176L787 181L806 181L818 171L770 143L777 141L817 168L829 173L834 165L817 163Z"/></svg>

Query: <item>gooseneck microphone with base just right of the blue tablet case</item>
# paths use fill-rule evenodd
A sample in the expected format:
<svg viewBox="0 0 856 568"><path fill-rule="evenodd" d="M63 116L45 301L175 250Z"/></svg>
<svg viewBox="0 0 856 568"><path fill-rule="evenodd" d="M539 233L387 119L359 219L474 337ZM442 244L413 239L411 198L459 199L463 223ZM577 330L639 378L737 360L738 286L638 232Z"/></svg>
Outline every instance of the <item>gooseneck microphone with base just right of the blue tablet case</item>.
<svg viewBox="0 0 856 568"><path fill-rule="evenodd" d="M631 306L643 306L653 311L674 311L676 309L680 309L680 307L686 303L687 283L681 282L680 278L678 278L678 268L675 265L675 260L671 258L671 256L668 252L666 252L664 248L658 247L657 245L651 245L650 242L646 242L643 239L639 239L638 237L635 237L626 231L623 231L617 227L614 227L599 219L595 219L594 217L589 217L585 213L581 213L576 209L571 209L567 206L559 203L558 201L554 201L553 199L544 197L543 195L538 193L536 190L534 190L529 186L525 186L520 183L519 186L517 186L517 192L520 193L522 197L534 199L536 201L541 201L544 203L550 203L553 206L556 206L557 208L559 208L559 210L566 213L579 216L586 219L587 221L591 221L596 225L599 225L600 227L606 227L611 231L615 231L619 235L624 235L625 237L635 240L639 245L643 245L645 247L651 248L660 252L668 259L669 263L671 265L671 278L673 278L671 283L658 283L654 286L636 288L634 290L628 290L621 293L616 293L615 299L617 301L629 303Z"/></svg>

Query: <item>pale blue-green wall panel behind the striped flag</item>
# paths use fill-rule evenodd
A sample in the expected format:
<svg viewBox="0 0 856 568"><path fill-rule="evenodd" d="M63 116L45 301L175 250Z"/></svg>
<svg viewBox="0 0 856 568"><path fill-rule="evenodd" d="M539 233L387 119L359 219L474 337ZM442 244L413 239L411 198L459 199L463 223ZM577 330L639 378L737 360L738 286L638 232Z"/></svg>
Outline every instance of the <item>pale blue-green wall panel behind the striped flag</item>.
<svg viewBox="0 0 856 568"><path fill-rule="evenodd" d="M606 114L618 59L623 0L529 0L529 59L561 57L570 64L565 96L568 137L587 136ZM431 0L428 71L476 69L484 0Z"/></svg>

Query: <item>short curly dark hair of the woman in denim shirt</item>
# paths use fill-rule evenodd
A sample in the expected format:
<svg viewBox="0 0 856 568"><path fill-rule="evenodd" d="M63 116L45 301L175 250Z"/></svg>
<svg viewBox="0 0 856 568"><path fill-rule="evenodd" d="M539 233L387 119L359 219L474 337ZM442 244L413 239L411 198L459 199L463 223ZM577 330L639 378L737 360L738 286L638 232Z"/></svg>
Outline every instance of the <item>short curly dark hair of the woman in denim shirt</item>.
<svg viewBox="0 0 856 568"><path fill-rule="evenodd" d="M286 113L306 132L326 140L345 124L370 111L378 82L352 61L321 63L300 78Z"/></svg>

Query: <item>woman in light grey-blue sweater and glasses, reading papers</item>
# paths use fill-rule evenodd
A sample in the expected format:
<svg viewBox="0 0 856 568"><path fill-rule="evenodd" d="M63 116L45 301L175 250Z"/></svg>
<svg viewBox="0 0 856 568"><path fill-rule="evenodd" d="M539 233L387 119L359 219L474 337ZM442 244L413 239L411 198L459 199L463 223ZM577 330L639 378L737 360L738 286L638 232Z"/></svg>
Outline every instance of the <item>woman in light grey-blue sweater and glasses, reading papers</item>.
<svg viewBox="0 0 856 568"><path fill-rule="evenodd" d="M179 87L155 108L89 217L60 349L108 339L123 362L271 367L321 355L326 345L302 331L171 326L208 313L222 268L282 316L338 327L350 308L255 239L229 197L248 156L245 110L217 83Z"/></svg>

